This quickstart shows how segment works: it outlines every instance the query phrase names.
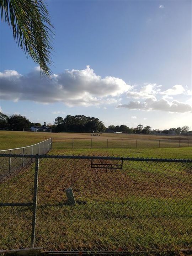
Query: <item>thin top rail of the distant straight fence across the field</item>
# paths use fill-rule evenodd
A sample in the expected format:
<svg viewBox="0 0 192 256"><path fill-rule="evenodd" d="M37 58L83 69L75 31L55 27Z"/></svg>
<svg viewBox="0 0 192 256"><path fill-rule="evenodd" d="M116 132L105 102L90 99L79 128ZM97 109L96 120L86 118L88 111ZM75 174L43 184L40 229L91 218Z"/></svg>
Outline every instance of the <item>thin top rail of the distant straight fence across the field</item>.
<svg viewBox="0 0 192 256"><path fill-rule="evenodd" d="M92 137L92 136L91 136L91 137ZM97 137L97 136L93 136L93 137ZM165 140L165 141L170 141L170 140L182 140L182 141L183 141L183 140L187 140L187 141L188 141L188 140L190 140L190 139L177 139L177 138L175 138L175 139L168 139L168 138L167 138L167 139L123 139L123 138L122 138L122 139L121 139L121 138L119 138L119 139L111 139L111 138L109 138L109 139L108 139L108 138L105 138L105 139L104 139L104 138L66 138L66 137L64 137L64 138L53 138L53 139L57 139L57 140L61 140L61 139L84 139L84 140L85 140L85 139L99 139L99 140L145 140L145 141L147 141L147 140L149 140L149 141L150 141L150 140L155 140L155 141L156 141L156 140L157 140L157 141L159 141L159 140L160 140L160 141L162 141L162 140ZM53 142L54 142L54 141L53 141ZM65 142L54 142L54 143L65 143Z"/></svg>

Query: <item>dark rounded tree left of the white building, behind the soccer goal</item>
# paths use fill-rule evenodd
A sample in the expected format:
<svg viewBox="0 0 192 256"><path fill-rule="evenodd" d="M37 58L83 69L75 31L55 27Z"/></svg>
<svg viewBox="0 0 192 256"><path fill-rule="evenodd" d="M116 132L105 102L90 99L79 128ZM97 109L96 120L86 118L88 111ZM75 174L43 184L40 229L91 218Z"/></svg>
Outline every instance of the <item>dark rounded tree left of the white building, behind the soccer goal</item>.
<svg viewBox="0 0 192 256"><path fill-rule="evenodd" d="M12 130L23 130L23 128L29 128L31 122L24 116L14 114L9 117L7 125Z"/></svg>

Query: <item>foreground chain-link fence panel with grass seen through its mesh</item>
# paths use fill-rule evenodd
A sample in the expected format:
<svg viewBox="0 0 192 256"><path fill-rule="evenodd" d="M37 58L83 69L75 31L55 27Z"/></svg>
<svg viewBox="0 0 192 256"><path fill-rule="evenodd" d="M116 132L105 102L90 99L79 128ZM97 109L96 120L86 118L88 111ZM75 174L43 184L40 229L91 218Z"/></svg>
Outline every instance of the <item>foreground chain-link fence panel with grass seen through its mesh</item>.
<svg viewBox="0 0 192 256"><path fill-rule="evenodd" d="M0 250L191 248L192 160L0 154L1 170L10 157L35 162L1 178Z"/></svg>

